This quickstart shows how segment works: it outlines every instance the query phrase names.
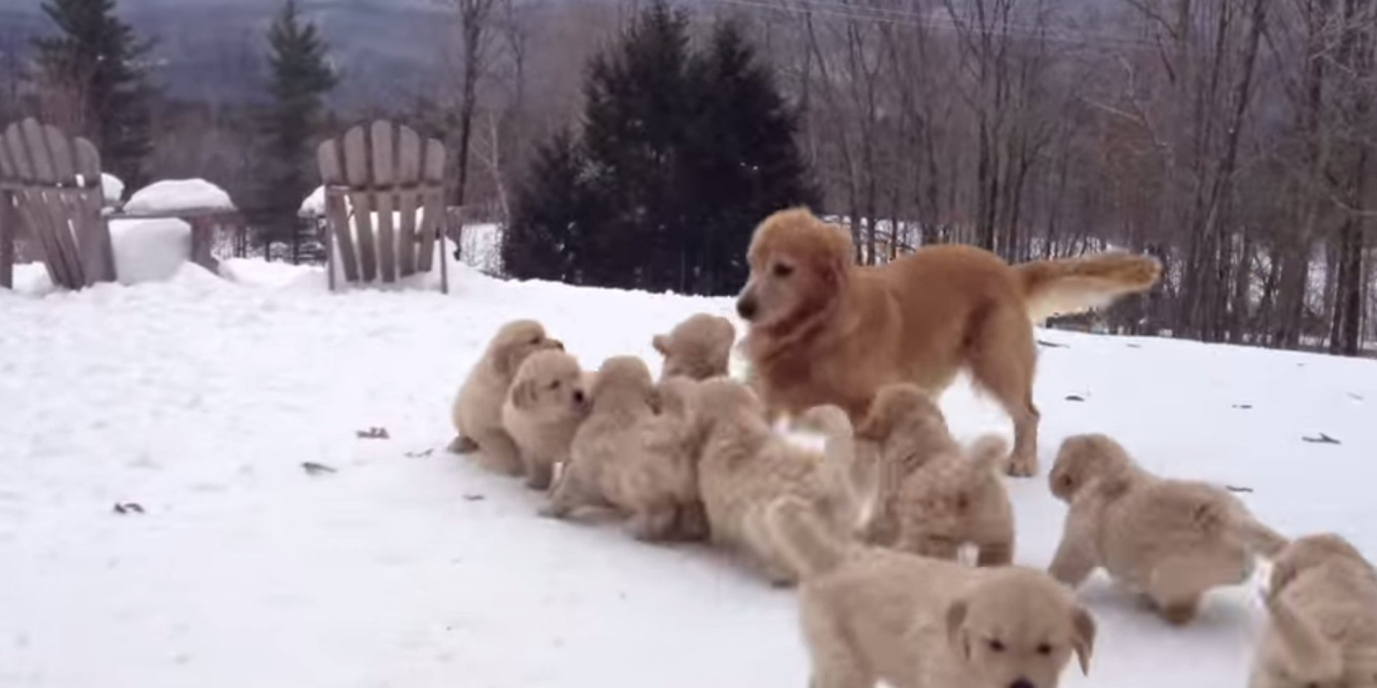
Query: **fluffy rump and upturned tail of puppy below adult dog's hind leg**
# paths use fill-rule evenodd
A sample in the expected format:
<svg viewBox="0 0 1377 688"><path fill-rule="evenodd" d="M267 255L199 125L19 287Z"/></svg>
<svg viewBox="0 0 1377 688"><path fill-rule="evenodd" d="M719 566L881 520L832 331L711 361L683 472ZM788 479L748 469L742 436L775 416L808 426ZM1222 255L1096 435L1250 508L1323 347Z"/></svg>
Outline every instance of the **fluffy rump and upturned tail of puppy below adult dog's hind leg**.
<svg viewBox="0 0 1377 688"><path fill-rule="evenodd" d="M1008 443L987 435L969 451L945 451L909 475L892 505L898 549L956 560L975 545L976 566L1013 561L1013 505L1000 480Z"/></svg>

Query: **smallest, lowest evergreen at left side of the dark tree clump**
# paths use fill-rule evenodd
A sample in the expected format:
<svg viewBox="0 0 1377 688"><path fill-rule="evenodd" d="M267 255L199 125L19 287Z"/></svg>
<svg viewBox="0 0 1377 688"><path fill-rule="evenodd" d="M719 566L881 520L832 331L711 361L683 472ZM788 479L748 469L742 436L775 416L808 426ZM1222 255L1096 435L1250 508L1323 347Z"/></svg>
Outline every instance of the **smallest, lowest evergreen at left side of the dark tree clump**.
<svg viewBox="0 0 1377 688"><path fill-rule="evenodd" d="M585 168L587 160L569 132L555 133L536 150L503 237L507 274L584 283L580 266L589 261L587 242L598 215L581 179Z"/></svg>

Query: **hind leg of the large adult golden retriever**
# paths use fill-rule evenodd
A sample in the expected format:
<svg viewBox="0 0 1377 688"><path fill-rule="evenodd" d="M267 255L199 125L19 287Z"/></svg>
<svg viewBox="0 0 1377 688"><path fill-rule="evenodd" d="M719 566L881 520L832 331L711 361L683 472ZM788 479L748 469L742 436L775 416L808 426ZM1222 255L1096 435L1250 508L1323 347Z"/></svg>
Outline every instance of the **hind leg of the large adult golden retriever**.
<svg viewBox="0 0 1377 688"><path fill-rule="evenodd" d="M1013 421L1008 473L1018 477L1036 475L1041 414L1033 405L1037 347L1027 314L1013 305L996 305L986 312L975 323L968 361L975 383L990 392Z"/></svg>

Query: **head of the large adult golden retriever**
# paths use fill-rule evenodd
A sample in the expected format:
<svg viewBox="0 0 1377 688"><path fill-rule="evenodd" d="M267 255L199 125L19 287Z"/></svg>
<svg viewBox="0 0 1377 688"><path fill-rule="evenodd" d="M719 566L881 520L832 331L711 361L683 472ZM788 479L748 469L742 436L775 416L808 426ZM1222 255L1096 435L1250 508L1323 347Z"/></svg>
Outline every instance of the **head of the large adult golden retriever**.
<svg viewBox="0 0 1377 688"><path fill-rule="evenodd" d="M851 270L851 237L804 208L779 211L756 228L749 260L737 314L768 329L823 312L840 297Z"/></svg>

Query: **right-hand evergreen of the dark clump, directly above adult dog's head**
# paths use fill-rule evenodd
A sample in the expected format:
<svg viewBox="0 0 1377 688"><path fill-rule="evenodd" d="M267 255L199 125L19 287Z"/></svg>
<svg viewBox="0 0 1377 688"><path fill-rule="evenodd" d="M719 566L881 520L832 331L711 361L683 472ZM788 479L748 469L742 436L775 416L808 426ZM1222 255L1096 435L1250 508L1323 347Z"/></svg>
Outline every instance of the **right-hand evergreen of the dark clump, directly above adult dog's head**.
<svg viewBox="0 0 1377 688"><path fill-rule="evenodd" d="M746 279L755 226L774 211L812 205L795 133L797 121L735 22L719 23L690 67L693 124L680 164L691 197L683 235L695 293L733 293Z"/></svg>

